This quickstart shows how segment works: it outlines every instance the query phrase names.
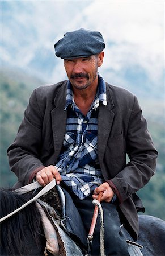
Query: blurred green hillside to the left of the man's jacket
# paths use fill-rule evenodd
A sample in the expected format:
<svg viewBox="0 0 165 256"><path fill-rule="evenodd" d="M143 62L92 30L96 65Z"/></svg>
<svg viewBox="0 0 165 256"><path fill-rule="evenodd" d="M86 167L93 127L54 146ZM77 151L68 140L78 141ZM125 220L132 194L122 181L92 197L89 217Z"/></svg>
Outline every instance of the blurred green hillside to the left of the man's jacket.
<svg viewBox="0 0 165 256"><path fill-rule="evenodd" d="M6 150L10 143L14 141L32 90L43 82L22 72L14 72L9 69L3 69L3 72L0 71L0 77L0 187L8 187L13 185L17 178L9 170Z"/></svg>

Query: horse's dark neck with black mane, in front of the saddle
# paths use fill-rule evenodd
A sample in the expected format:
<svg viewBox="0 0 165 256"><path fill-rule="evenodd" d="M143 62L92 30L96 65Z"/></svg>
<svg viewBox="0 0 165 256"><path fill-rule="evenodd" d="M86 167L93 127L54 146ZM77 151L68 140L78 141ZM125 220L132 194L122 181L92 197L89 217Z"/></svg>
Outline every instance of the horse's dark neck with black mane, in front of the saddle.
<svg viewBox="0 0 165 256"><path fill-rule="evenodd" d="M19 195L12 189L1 189L1 218L19 208L29 199L31 199L30 193ZM1 256L43 256L45 244L39 210L34 202L1 224Z"/></svg>

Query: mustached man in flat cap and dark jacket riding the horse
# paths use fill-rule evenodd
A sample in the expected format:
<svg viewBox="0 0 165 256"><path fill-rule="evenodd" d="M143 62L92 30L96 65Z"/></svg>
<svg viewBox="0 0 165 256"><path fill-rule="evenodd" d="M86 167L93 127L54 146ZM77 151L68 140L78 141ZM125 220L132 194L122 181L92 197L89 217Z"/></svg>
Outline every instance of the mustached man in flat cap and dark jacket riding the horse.
<svg viewBox="0 0 165 256"><path fill-rule="evenodd" d="M98 73L104 48L100 32L83 28L55 44L69 80L32 93L7 152L17 187L33 179L44 186L55 177L70 193L87 234L92 199L103 191L105 255L129 255L120 225L137 239L137 210L144 208L136 192L154 175L157 151L136 96ZM99 248L98 222L92 255Z"/></svg>

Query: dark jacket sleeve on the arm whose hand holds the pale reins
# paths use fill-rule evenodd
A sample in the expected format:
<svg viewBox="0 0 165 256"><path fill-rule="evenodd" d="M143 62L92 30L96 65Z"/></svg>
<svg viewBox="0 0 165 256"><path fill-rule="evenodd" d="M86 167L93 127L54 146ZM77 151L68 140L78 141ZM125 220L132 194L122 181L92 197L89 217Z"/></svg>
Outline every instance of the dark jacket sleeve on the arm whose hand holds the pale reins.
<svg viewBox="0 0 165 256"><path fill-rule="evenodd" d="M40 159L42 114L37 103L36 90L33 91L24 112L18 134L7 149L11 171L15 172L23 184L32 181L37 171L44 168Z"/></svg>

